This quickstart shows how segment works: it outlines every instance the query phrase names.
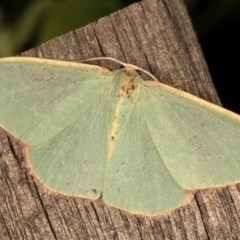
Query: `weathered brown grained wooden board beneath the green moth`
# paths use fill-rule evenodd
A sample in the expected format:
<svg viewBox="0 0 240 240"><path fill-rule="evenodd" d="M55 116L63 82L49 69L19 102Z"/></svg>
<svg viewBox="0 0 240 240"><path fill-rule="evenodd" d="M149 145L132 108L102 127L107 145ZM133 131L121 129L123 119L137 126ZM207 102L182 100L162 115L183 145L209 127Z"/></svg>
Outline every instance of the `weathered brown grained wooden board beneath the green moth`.
<svg viewBox="0 0 240 240"><path fill-rule="evenodd" d="M22 55L61 60L110 56L219 104L183 1L146 0ZM15 116L17 117L17 116ZM19 142L0 130L0 239L240 239L240 188L199 191L157 218L52 196L26 169Z"/></svg>

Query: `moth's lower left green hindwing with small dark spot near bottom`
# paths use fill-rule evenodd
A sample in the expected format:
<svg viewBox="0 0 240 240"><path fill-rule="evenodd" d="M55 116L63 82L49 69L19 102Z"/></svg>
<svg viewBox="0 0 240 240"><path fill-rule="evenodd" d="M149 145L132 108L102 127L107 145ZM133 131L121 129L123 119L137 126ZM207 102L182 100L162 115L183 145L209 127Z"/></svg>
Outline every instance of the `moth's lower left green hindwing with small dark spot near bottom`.
<svg viewBox="0 0 240 240"><path fill-rule="evenodd" d="M114 110L108 93L49 141L29 148L31 168L50 190L90 199L100 197Z"/></svg>

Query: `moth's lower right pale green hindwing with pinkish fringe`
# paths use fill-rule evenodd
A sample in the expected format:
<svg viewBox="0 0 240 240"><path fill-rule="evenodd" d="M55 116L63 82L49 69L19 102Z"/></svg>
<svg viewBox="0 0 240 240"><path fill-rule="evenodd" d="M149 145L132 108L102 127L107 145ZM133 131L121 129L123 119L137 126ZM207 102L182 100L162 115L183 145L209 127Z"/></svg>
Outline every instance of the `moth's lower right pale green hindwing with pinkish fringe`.
<svg viewBox="0 0 240 240"><path fill-rule="evenodd" d="M165 167L144 119L142 103L131 95L121 110L116 143L107 164L103 200L144 215L157 215L180 206L191 194L178 186Z"/></svg>

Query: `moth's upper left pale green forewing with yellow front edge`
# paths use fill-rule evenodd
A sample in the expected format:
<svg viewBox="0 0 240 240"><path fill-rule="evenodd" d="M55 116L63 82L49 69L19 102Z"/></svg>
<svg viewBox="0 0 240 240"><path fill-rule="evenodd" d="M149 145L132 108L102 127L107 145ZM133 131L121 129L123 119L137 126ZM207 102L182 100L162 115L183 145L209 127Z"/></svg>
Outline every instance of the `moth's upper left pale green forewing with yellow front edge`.
<svg viewBox="0 0 240 240"><path fill-rule="evenodd" d="M111 88L112 77L107 72L71 62L1 59L1 126L30 145L51 138Z"/></svg>

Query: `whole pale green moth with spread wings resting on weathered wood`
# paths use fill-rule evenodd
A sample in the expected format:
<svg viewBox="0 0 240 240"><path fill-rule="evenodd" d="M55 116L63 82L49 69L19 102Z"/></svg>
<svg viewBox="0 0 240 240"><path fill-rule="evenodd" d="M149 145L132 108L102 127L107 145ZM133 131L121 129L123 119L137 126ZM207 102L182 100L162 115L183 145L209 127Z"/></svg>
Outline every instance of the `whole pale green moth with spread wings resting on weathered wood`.
<svg viewBox="0 0 240 240"><path fill-rule="evenodd" d="M0 126L48 189L154 216L240 181L240 116L130 65L0 60Z"/></svg>

